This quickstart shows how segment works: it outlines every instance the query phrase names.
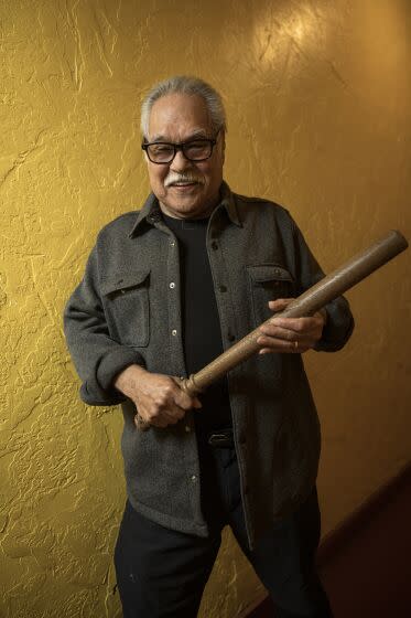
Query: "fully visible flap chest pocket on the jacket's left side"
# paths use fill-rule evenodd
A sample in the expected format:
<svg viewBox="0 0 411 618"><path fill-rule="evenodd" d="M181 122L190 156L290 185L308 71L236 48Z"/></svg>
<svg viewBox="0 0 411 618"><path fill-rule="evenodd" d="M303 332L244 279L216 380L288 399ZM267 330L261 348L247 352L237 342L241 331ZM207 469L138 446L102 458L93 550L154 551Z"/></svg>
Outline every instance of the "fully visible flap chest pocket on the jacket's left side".
<svg viewBox="0 0 411 618"><path fill-rule="evenodd" d="M150 340L150 270L116 274L101 281L107 322L113 339L145 348Z"/></svg>

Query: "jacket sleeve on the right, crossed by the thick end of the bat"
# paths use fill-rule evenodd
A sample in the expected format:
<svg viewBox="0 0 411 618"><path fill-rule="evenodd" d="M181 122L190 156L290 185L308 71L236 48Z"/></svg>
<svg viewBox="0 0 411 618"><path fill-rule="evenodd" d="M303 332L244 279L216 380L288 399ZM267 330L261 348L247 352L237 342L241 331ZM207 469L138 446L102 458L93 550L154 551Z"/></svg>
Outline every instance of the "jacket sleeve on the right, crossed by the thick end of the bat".
<svg viewBox="0 0 411 618"><path fill-rule="evenodd" d="M300 296L323 279L325 275L298 225L293 220L291 221L296 283L300 288L298 294ZM344 296L339 296L332 302L328 302L325 309L327 311L327 321L323 329L323 335L314 347L314 350L321 352L336 352L340 350L350 338L354 330L354 318L348 301Z"/></svg>

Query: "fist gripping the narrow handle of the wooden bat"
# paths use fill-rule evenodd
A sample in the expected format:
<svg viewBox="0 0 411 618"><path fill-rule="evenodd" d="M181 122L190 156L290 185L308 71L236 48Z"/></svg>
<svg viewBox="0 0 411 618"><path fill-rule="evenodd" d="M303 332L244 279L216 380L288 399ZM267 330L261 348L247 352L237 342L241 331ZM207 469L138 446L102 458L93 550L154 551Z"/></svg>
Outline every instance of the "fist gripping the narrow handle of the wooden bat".
<svg viewBox="0 0 411 618"><path fill-rule="evenodd" d="M115 386L134 403L144 423L166 427L179 423L188 409L202 407L197 397L182 391L180 382L179 377L130 365L117 376Z"/></svg>

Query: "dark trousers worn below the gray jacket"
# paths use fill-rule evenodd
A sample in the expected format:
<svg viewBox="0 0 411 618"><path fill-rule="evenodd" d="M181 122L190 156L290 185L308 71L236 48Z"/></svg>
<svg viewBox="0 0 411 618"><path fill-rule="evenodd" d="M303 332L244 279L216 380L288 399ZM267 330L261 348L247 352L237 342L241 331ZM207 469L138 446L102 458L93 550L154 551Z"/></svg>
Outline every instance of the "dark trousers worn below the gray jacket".
<svg viewBox="0 0 411 618"><path fill-rule="evenodd" d="M202 507L210 534L199 539L165 529L127 502L115 551L123 618L195 618L226 524L270 593L275 618L331 618L328 599L315 571L321 528L316 489L295 513L273 525L251 552L236 451L212 449L206 444L199 448Z"/></svg>

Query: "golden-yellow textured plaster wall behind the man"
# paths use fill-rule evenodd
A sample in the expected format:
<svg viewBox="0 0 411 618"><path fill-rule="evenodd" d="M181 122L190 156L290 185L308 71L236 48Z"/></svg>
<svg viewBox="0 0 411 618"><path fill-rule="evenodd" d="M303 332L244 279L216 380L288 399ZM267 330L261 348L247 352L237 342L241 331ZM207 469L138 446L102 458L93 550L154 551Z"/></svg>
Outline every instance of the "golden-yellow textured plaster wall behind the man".
<svg viewBox="0 0 411 618"><path fill-rule="evenodd" d="M139 103L173 73L229 116L226 178L286 205L326 270L411 238L411 7L401 0L0 3L0 616L118 617L118 408L77 398L62 309L102 224L148 192ZM410 458L410 253L349 292L357 330L309 354L324 532ZM202 618L261 595L227 533Z"/></svg>

